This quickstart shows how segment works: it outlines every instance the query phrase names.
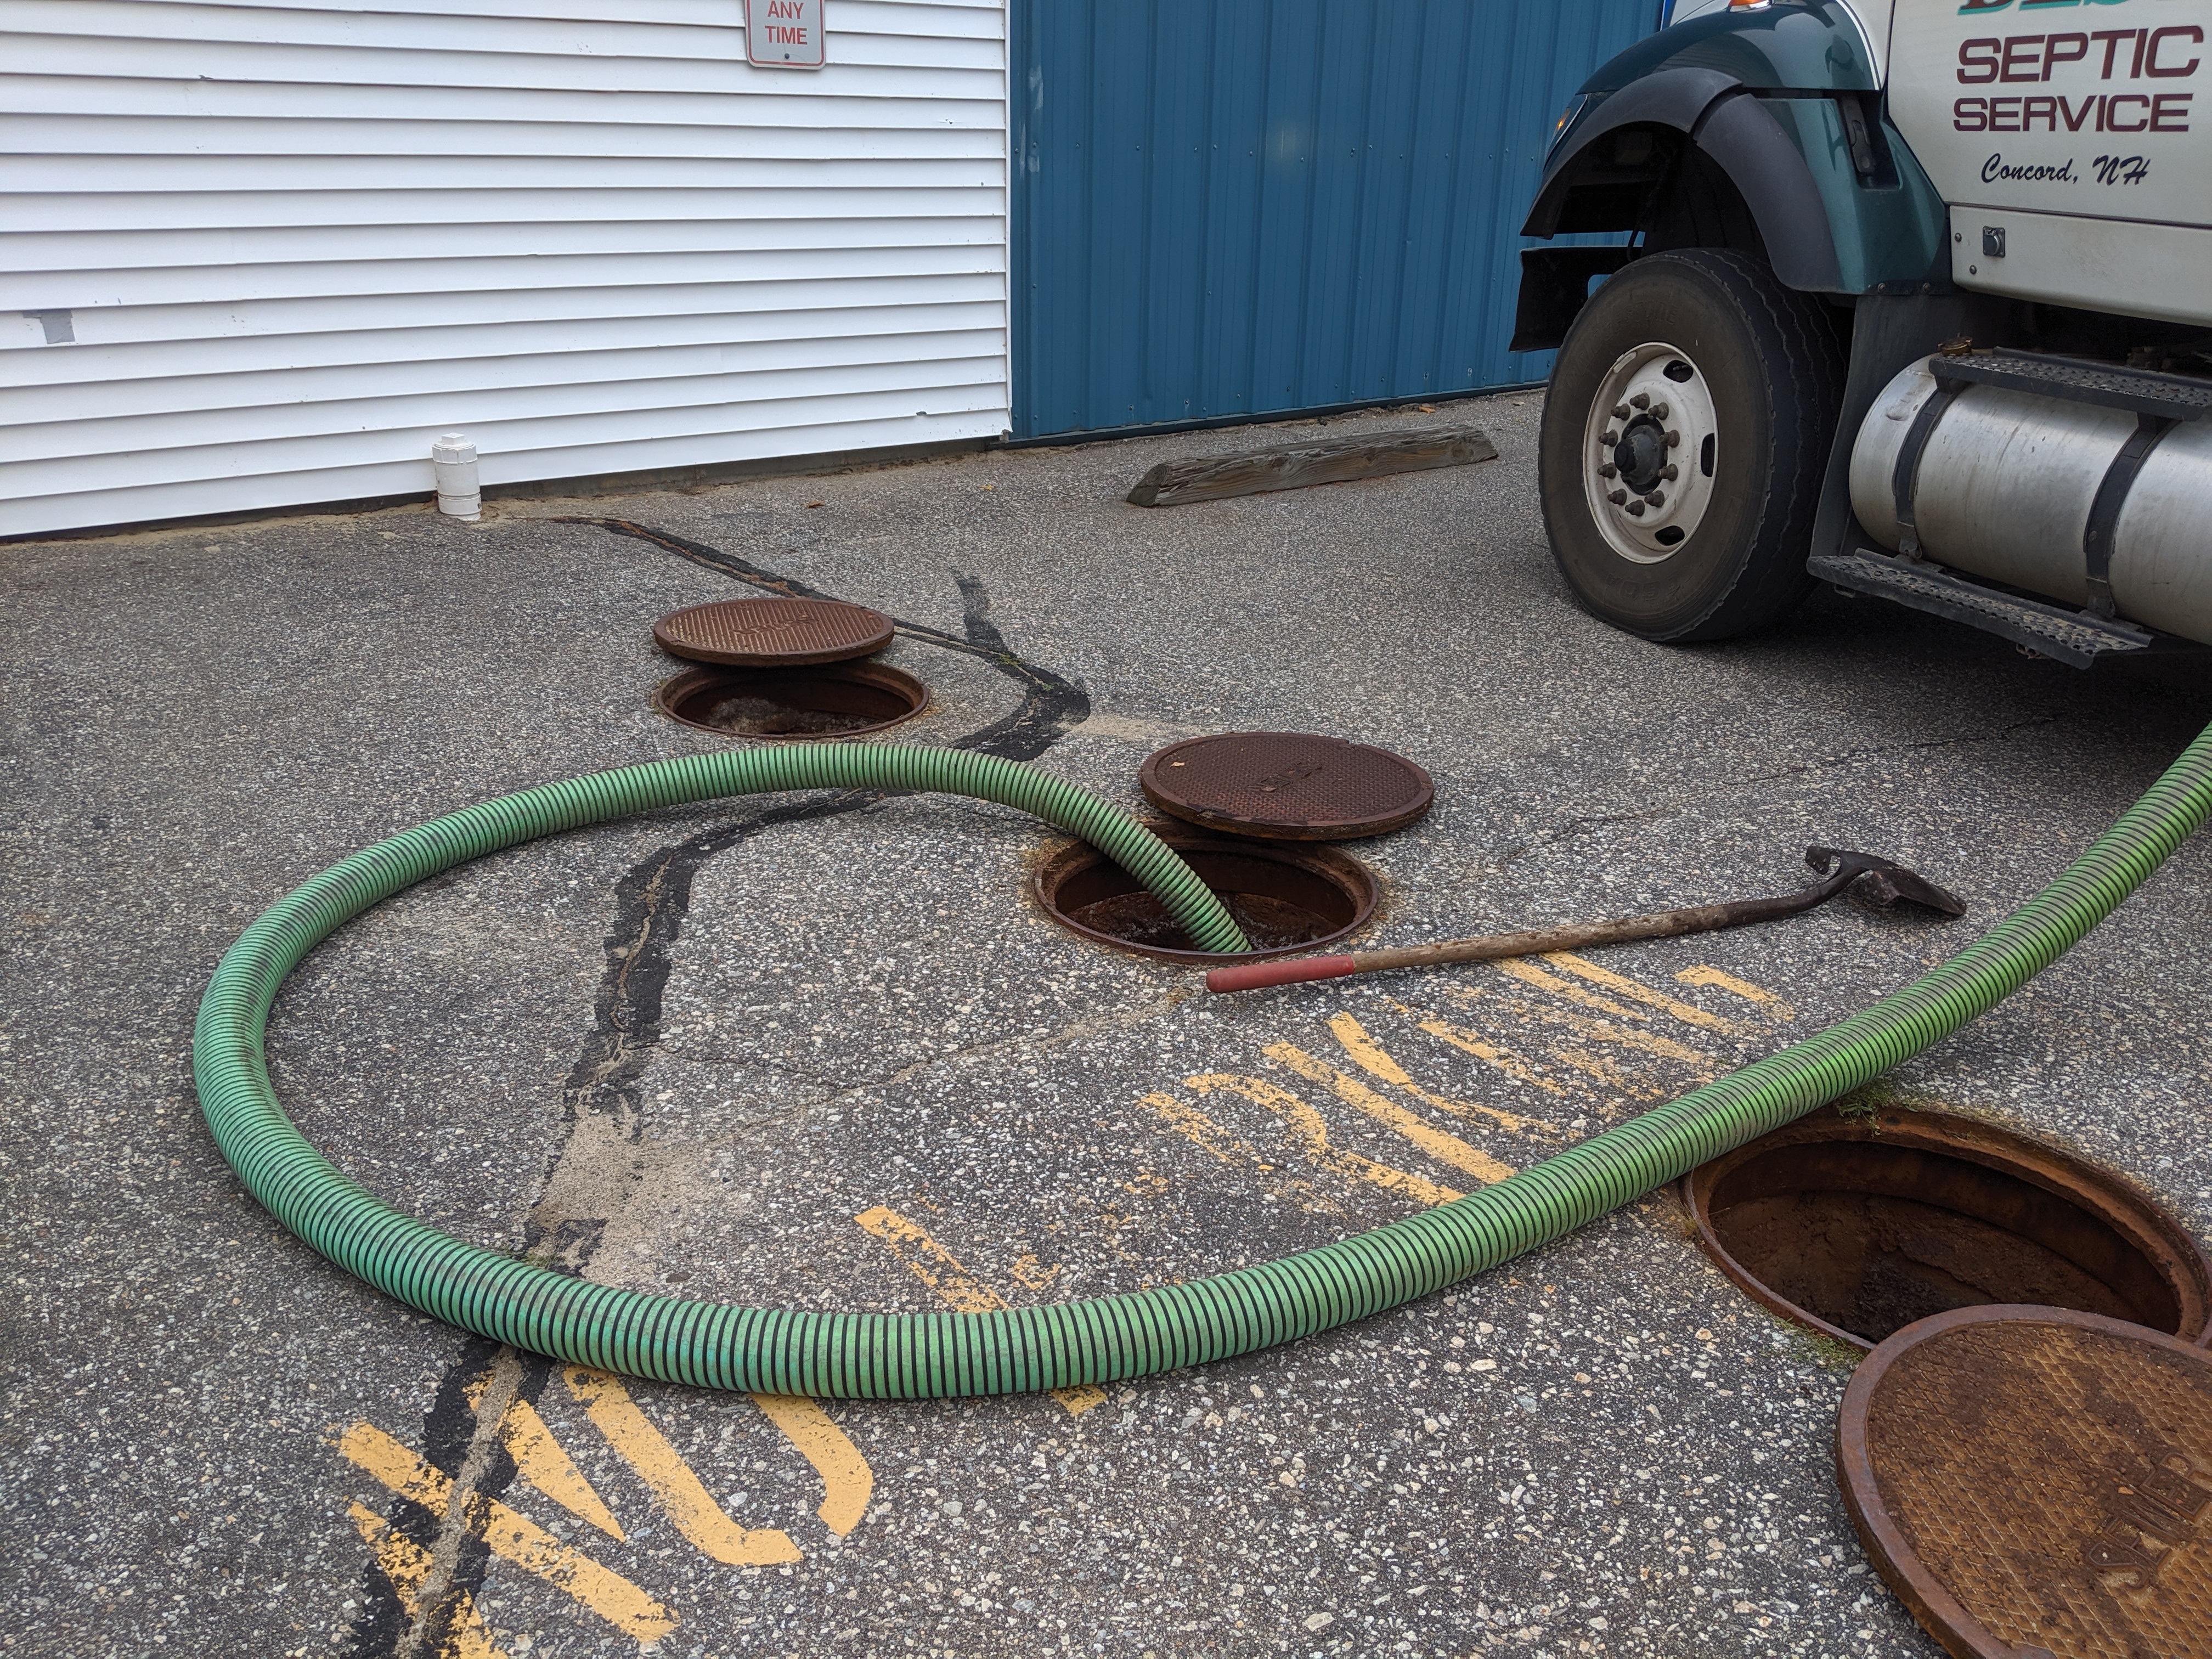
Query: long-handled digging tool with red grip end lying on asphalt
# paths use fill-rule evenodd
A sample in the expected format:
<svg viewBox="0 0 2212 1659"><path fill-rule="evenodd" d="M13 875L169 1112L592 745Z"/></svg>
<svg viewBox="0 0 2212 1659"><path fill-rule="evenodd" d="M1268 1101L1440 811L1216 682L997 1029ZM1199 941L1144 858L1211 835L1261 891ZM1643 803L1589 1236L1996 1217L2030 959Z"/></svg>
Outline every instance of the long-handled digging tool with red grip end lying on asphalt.
<svg viewBox="0 0 2212 1659"><path fill-rule="evenodd" d="M1438 962L1491 962L1502 956L1544 956L1546 951L1586 951L1595 945L1626 945L1639 938L1712 933L1721 927L1750 927L1752 922L1796 916L1798 911L1825 905L1854 883L1858 883L1863 898L1885 909L1905 900L1907 905L1922 905L1944 916L1966 914L1966 905L1960 898L1947 894L1924 876L1916 876L1905 865L1878 858L1871 852L1807 847L1805 863L1827 876L1827 880L1796 894L1783 894L1781 898L1739 898L1732 905L1692 905L1690 909L1663 909L1652 916L1619 916L1610 922L1535 927L1524 933L1489 933L1484 938L1455 938L1438 945L1407 945L1396 951L1307 956L1290 962L1237 962L1234 967L1219 967L1208 973L1206 989L1256 991L1263 984L1343 980L1352 973L1385 973L1389 969L1433 967Z"/></svg>

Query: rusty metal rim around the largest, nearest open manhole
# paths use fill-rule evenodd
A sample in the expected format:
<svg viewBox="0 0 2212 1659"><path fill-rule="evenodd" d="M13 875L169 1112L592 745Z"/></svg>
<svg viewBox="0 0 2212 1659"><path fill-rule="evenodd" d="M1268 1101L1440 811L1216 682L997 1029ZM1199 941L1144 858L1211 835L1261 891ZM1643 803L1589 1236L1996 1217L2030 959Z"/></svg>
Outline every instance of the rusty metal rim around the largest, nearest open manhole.
<svg viewBox="0 0 2212 1659"><path fill-rule="evenodd" d="M1929 1133L1922 1126L1951 1130L1951 1135ZM2179 1219L2166 1212L2157 1194L2143 1190L2117 1170L2099 1168L2077 1152L2068 1152L2051 1141L2039 1141L2022 1130L1991 1124L1980 1117L1966 1117L1964 1113L1896 1106L1885 1106L1865 1117L1856 1113L1845 1115L1834 1106L1825 1106L1816 1113L1807 1113L1794 1124L1783 1124L1759 1139L1745 1141L1717 1159L1699 1164L1674 1183L1677 1201L1694 1228L1697 1248L1705 1252L1705 1256L1736 1285L1736 1290L1767 1312L1781 1314L1792 1325L1814 1329L1820 1336L1843 1343L1845 1347L1858 1349L1860 1354L1871 1354L1880 1347L1880 1343L1869 1343L1858 1332L1832 1325L1809 1307L1792 1303L1745 1267L1714 1230L1710 1197L1734 1168L1752 1157L1809 1141L1911 1146L1913 1150L1980 1164L1982 1168L2037 1186L2044 1192L2086 1210L2112 1228L2130 1248L2135 1248L2177 1292L2174 1301L2181 1305L2183 1329L2194 1325L2197 1336L2177 1336L2174 1340L2212 1347L2212 1254L2205 1254L2205 1248L2197 1241L2197 1237L2183 1228ZM2112 1199L2117 1199L2117 1203ZM1995 1307L2000 1303L1978 1305ZM2143 1325L2137 1329L2150 1327Z"/></svg>

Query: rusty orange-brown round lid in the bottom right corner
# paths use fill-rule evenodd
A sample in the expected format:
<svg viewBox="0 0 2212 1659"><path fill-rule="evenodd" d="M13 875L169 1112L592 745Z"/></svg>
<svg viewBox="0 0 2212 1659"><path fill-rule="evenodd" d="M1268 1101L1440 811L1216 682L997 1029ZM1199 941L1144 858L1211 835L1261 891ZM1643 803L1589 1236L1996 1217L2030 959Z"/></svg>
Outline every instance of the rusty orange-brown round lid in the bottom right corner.
<svg viewBox="0 0 2212 1659"><path fill-rule="evenodd" d="M2212 1655L2212 1354L2066 1307L1960 1307L1851 1376L1836 1471L1960 1659Z"/></svg>

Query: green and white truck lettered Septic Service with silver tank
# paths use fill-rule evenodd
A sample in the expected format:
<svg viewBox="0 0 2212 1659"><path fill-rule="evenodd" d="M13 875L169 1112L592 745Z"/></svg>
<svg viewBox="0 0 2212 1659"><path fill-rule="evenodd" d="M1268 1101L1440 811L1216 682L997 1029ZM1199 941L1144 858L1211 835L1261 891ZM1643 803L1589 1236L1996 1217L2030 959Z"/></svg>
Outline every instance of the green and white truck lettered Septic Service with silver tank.
<svg viewBox="0 0 2212 1659"><path fill-rule="evenodd" d="M1597 617L1816 584L2212 644L2212 0L1677 0L1559 117L1513 349ZM1626 241L1621 239L1626 232Z"/></svg>

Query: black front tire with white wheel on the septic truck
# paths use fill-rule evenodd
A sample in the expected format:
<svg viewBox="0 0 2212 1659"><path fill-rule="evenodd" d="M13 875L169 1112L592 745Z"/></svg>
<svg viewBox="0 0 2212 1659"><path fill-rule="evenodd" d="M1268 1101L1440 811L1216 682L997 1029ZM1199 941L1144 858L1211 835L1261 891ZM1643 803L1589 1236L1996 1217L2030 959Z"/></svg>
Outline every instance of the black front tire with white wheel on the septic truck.
<svg viewBox="0 0 2212 1659"><path fill-rule="evenodd" d="M1827 305L1721 248L1610 276L1559 347L1540 487L1575 599L1692 644L1787 615L1843 403Z"/></svg>

